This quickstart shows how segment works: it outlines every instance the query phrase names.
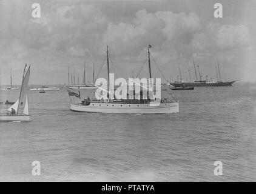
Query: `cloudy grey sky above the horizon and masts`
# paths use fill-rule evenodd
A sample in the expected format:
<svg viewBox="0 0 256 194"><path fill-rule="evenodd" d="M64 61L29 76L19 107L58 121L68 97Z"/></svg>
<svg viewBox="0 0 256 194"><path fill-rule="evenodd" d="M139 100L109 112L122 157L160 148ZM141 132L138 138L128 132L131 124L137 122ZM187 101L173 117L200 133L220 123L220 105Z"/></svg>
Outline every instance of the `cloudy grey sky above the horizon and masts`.
<svg viewBox="0 0 256 194"><path fill-rule="evenodd" d="M41 5L41 18L32 17L32 4ZM214 18L214 4L223 5L223 18ZM30 64L30 84L64 84L67 69L86 81L137 75L150 44L152 76L195 80L193 58L201 75L216 80L256 79L256 1L79 1L0 0L0 84L21 84L24 64ZM157 63L157 65L155 64ZM158 70L159 69L161 70ZM147 77L147 64L140 77Z"/></svg>

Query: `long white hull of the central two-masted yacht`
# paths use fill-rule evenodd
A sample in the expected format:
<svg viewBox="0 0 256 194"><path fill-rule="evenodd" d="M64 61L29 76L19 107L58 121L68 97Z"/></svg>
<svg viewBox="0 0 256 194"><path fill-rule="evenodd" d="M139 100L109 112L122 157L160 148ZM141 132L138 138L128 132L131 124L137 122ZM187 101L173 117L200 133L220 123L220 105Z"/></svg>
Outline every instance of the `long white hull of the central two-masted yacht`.
<svg viewBox="0 0 256 194"><path fill-rule="evenodd" d="M90 105L71 104L70 110L93 113L120 113L120 114L157 114L178 113L178 102L164 102L157 106L149 104L117 104L117 103L90 103Z"/></svg>

